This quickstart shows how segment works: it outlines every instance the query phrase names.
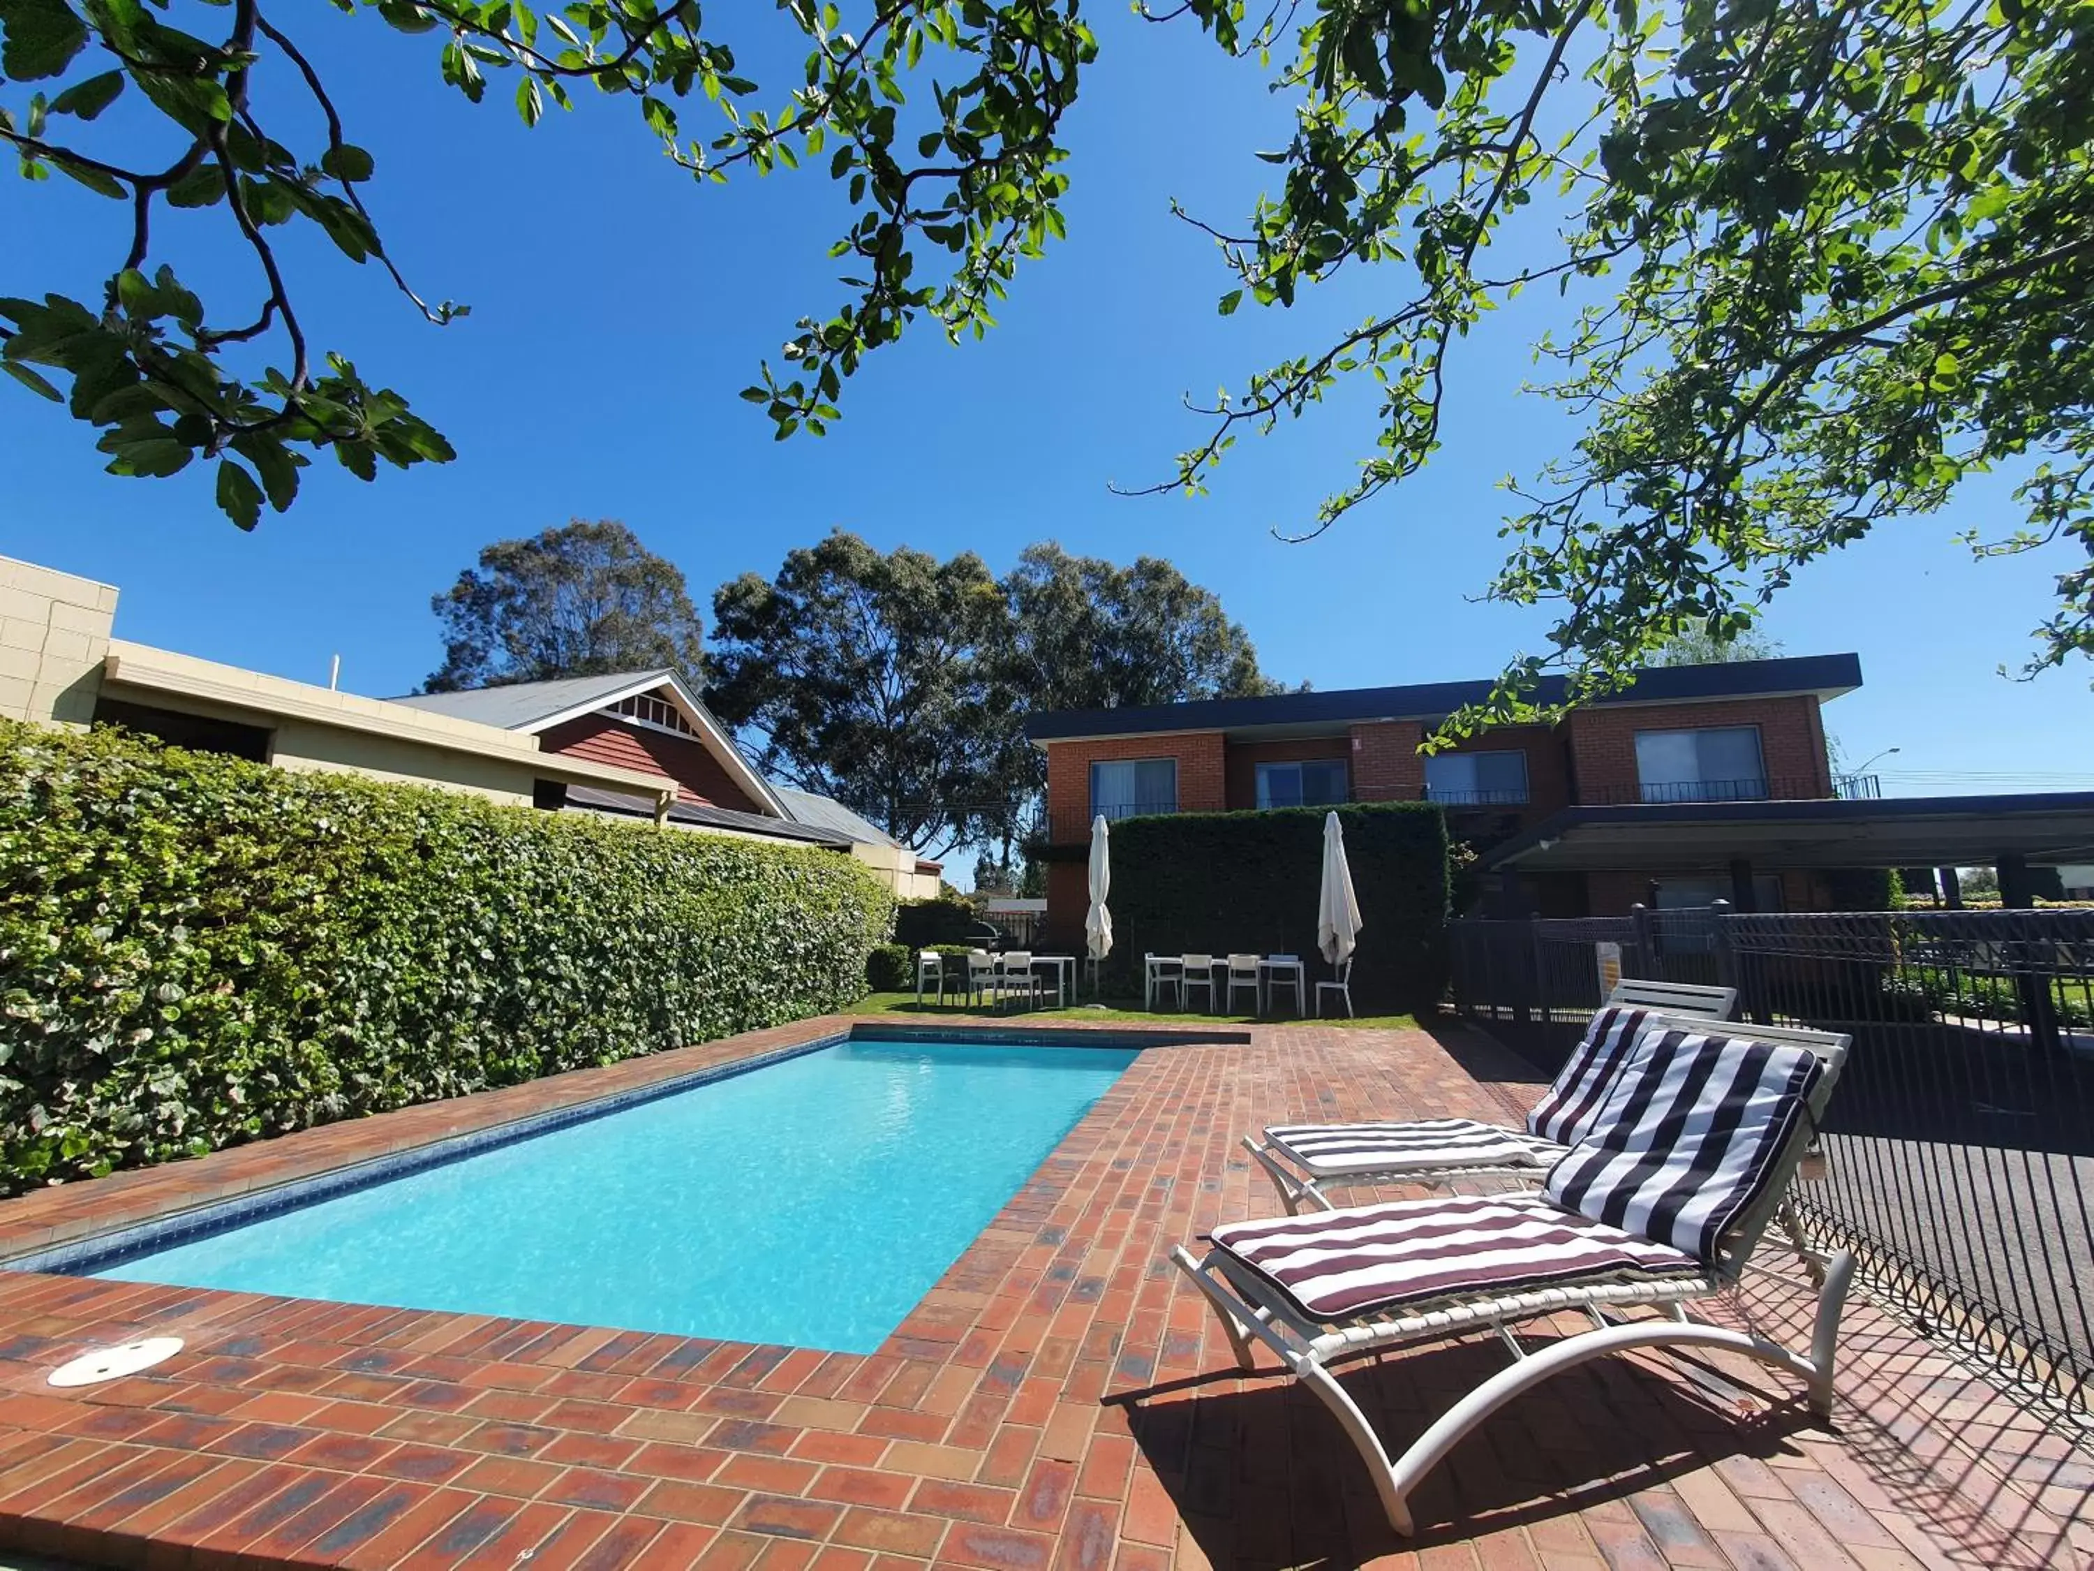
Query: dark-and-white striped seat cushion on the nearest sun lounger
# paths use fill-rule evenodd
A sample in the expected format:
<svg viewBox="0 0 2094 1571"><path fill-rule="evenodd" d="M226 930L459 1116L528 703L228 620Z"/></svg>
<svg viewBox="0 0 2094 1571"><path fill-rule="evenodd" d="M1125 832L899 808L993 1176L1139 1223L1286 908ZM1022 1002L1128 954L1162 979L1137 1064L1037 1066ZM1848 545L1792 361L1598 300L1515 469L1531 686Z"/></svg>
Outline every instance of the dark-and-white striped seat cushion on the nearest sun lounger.
<svg viewBox="0 0 2094 1571"><path fill-rule="evenodd" d="M1573 1215L1539 1196L1466 1194L1238 1221L1210 1238L1311 1320L1434 1299L1698 1276L1690 1255Z"/></svg>

